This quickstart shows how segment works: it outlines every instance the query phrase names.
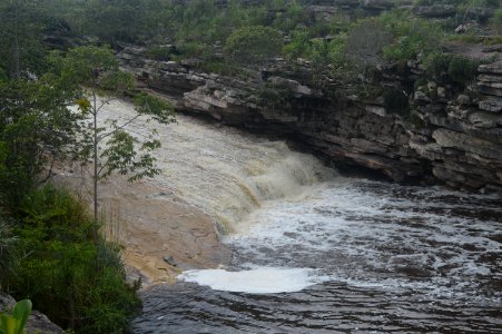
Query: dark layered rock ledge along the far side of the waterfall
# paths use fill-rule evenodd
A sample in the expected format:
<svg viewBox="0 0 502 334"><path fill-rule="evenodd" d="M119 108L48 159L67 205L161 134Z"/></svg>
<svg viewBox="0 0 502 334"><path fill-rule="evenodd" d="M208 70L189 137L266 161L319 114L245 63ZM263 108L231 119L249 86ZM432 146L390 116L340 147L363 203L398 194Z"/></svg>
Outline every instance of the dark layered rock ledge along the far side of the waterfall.
<svg viewBox="0 0 502 334"><path fill-rule="evenodd" d="M196 70L190 61L156 61L126 47L117 57L145 89L180 111L285 136L337 166L360 166L395 181L439 181L502 194L502 62L479 67L466 91L427 82L409 96L412 114L388 110L382 96L333 96L316 89L308 65L294 71L277 60L265 82L286 91L275 105L257 101L260 84ZM413 87L420 63L404 72L380 68L383 88ZM415 85L416 86L416 85Z"/></svg>

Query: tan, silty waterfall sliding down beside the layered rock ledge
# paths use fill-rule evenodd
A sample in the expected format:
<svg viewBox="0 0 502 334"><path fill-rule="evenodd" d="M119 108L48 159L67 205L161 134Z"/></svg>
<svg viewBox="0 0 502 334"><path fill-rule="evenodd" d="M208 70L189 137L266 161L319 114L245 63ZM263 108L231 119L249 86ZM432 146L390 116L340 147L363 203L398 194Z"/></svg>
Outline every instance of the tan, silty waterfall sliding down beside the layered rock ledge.
<svg viewBox="0 0 502 334"><path fill-rule="evenodd" d="M115 101L105 118L128 119L132 108ZM257 138L237 129L178 115L177 124L139 121L128 126L138 137L157 130L156 153L163 170L155 178L171 194L214 217L228 232L265 202L298 197L333 178L316 158L292 151L284 141Z"/></svg>

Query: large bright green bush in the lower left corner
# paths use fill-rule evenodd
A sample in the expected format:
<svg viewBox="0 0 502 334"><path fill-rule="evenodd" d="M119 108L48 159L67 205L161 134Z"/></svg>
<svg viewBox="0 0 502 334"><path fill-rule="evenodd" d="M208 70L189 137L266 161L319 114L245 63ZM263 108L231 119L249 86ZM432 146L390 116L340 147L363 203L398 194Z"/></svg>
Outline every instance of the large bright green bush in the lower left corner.
<svg viewBox="0 0 502 334"><path fill-rule="evenodd" d="M14 233L24 256L7 277L9 292L77 333L122 332L139 301L119 247L93 243L95 223L68 191L46 186L21 207Z"/></svg>

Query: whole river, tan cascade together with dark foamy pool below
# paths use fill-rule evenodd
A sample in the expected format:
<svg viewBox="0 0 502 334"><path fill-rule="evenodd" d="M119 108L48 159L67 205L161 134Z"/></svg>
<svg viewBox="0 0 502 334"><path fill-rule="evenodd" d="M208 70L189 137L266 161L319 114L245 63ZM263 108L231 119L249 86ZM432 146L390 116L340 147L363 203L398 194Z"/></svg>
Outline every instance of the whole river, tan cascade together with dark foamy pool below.
<svg viewBox="0 0 502 334"><path fill-rule="evenodd" d="M156 181L224 222L234 257L144 292L135 333L502 333L500 198L339 177L186 117L159 136Z"/></svg>

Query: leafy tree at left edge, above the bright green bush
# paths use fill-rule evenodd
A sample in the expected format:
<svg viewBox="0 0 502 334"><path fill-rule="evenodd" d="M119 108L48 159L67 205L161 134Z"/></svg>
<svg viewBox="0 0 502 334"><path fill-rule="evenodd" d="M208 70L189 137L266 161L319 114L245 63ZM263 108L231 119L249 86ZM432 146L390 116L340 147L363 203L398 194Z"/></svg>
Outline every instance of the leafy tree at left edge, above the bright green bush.
<svg viewBox="0 0 502 334"><path fill-rule="evenodd" d="M77 115L71 90L50 78L0 82L0 197L16 208L47 180L56 161L71 157Z"/></svg>

